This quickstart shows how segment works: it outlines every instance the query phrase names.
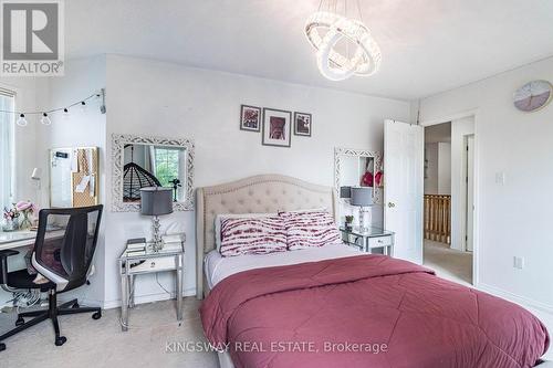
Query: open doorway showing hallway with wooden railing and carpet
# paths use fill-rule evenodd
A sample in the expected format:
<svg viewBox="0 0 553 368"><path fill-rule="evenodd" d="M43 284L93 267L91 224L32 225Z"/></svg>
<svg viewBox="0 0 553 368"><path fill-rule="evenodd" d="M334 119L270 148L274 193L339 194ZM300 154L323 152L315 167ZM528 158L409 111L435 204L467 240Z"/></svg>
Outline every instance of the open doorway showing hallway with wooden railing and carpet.
<svg viewBox="0 0 553 368"><path fill-rule="evenodd" d="M474 119L425 128L424 264L472 284Z"/></svg>

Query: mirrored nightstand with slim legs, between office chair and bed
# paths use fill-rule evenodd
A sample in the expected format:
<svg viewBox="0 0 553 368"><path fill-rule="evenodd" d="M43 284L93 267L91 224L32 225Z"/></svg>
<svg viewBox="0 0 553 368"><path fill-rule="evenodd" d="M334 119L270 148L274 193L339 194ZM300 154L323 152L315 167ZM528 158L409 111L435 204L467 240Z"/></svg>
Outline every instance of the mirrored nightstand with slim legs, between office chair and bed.
<svg viewBox="0 0 553 368"><path fill-rule="evenodd" d="M121 329L128 330L128 308L133 308L135 276L147 273L175 272L177 294L177 320L182 320L182 285L185 275L185 242L164 246L157 253L149 250L143 255L128 255L123 252L119 257L121 270ZM139 263L144 261L143 263ZM139 263L139 264L138 264ZM132 264L136 264L132 266Z"/></svg>

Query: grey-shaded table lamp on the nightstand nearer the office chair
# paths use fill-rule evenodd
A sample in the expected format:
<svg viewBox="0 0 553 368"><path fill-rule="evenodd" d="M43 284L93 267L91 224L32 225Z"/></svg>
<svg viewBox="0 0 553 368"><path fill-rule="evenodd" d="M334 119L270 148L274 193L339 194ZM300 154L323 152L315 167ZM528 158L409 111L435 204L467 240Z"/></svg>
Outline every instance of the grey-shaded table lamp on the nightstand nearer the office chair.
<svg viewBox="0 0 553 368"><path fill-rule="evenodd" d="M173 189L163 187L146 187L140 189L140 213L153 215L154 252L164 248L159 233L159 215L173 213Z"/></svg>

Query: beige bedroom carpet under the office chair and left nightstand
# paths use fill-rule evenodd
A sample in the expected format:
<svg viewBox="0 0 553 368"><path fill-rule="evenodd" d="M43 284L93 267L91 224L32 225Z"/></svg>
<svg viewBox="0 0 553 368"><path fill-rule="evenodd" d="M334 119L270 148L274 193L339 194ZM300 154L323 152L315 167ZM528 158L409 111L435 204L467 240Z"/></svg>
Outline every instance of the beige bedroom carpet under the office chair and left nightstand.
<svg viewBox="0 0 553 368"><path fill-rule="evenodd" d="M61 316L65 345L54 345L52 324L43 322L4 341L0 367L217 368L215 353L166 353L166 343L205 341L198 306L195 297L187 297L179 325L175 302L138 305L131 311L126 333L119 327L118 308L104 311L100 320L84 314ZM14 320L13 314L0 314L0 330L11 328Z"/></svg>

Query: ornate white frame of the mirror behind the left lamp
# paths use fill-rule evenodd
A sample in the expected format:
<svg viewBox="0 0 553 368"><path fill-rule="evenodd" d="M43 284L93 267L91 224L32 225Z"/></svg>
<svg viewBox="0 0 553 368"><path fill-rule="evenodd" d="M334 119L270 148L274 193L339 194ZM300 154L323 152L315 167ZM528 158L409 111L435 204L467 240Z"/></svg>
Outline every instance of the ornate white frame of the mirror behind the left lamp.
<svg viewBox="0 0 553 368"><path fill-rule="evenodd" d="M174 211L194 211L194 140L186 138L144 137L129 134L112 134L112 211L139 212L140 203L123 201L123 153L125 145L140 144L173 146L186 149L186 198L174 202Z"/></svg>

